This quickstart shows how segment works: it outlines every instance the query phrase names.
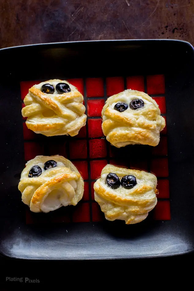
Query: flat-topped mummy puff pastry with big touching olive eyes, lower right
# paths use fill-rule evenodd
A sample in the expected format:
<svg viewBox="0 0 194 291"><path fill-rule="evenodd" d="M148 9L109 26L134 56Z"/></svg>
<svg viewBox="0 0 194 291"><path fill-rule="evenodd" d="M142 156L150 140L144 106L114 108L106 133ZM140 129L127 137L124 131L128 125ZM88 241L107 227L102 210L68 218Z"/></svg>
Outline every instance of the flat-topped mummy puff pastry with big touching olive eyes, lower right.
<svg viewBox="0 0 194 291"><path fill-rule="evenodd" d="M156 185L157 178L151 173L108 164L94 183L94 197L106 219L135 224L156 205Z"/></svg>

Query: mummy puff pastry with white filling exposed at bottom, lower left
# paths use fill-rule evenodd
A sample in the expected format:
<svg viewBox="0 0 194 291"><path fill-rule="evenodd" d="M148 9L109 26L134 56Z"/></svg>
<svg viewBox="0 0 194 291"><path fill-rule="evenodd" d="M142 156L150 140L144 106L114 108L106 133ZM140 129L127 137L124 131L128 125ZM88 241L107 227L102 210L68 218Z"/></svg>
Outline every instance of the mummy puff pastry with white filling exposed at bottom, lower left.
<svg viewBox="0 0 194 291"><path fill-rule="evenodd" d="M36 156L21 173L18 189L32 212L49 212L76 205L84 182L77 168L62 156Z"/></svg>

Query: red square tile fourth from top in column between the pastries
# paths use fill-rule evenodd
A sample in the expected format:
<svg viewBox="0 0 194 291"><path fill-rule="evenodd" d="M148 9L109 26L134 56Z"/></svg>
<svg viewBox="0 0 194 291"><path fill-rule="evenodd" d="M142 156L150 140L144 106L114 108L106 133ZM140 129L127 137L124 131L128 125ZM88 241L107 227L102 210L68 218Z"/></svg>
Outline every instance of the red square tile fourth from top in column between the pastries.
<svg viewBox="0 0 194 291"><path fill-rule="evenodd" d="M105 158L106 141L105 139L90 139L89 140L89 156L90 158Z"/></svg>

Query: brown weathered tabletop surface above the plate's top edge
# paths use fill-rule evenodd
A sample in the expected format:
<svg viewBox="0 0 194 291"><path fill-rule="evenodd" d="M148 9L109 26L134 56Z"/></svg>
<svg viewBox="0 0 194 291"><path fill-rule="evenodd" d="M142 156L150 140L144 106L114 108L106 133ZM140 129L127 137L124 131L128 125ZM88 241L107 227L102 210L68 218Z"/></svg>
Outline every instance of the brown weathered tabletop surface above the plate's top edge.
<svg viewBox="0 0 194 291"><path fill-rule="evenodd" d="M1 0L0 47L171 38L194 44L193 0Z"/></svg>

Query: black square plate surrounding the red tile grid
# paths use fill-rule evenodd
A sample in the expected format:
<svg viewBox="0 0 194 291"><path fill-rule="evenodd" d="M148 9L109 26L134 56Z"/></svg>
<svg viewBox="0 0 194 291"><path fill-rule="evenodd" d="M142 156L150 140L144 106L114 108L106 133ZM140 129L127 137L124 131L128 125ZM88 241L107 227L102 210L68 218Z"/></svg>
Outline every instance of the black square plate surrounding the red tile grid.
<svg viewBox="0 0 194 291"><path fill-rule="evenodd" d="M189 43L177 40L51 43L0 50L2 255L21 259L122 259L194 250L193 51ZM171 219L157 221L150 213L136 225L105 220L26 224L26 207L17 189L25 165L20 82L157 74L165 76ZM46 145L49 140L43 138L42 142ZM124 153L130 161L137 147L128 149ZM140 149L141 155L149 152L145 149ZM91 188L89 195L91 198Z"/></svg>

